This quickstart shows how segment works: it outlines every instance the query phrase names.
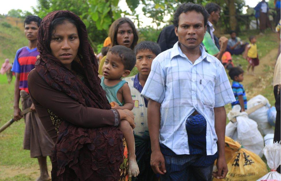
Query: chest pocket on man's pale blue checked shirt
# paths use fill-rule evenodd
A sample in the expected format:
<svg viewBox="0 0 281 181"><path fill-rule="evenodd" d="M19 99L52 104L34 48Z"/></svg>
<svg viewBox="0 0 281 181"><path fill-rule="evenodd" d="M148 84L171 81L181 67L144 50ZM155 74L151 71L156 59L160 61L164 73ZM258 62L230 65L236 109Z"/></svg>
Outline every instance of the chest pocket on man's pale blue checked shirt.
<svg viewBox="0 0 281 181"><path fill-rule="evenodd" d="M201 101L204 106L214 107L214 87L213 82L208 79L201 79Z"/></svg>

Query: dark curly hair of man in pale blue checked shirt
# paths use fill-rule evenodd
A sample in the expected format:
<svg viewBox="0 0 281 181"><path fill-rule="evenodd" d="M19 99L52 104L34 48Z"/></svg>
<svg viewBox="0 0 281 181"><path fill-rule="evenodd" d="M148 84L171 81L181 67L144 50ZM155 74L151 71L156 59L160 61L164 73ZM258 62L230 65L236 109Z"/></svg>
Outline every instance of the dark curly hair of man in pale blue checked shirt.
<svg viewBox="0 0 281 181"><path fill-rule="evenodd" d="M182 13L187 13L189 11L196 11L198 13L201 13L203 15L203 17L204 17L204 26L207 25L209 14L206 11L206 9L204 9L204 7L202 5L188 2L188 3L181 4L178 7L178 9L176 9L176 12L174 13L174 20L173 20L174 26L178 27L179 26L179 16Z"/></svg>

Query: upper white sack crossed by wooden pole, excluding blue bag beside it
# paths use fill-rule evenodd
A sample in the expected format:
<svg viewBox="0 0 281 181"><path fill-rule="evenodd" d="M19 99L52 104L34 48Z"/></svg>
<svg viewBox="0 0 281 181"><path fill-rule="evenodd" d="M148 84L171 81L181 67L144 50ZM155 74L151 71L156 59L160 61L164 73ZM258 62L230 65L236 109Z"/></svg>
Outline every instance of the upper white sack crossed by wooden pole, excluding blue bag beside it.
<svg viewBox="0 0 281 181"><path fill-rule="evenodd" d="M254 111L253 113L249 114L248 115L249 118L258 123L259 126L258 128L259 130L261 130L263 135L274 133L272 126L268 123L267 120L267 110L270 108L270 104L267 98L259 94L247 102L247 108L250 109L259 104L266 104L266 105Z"/></svg>

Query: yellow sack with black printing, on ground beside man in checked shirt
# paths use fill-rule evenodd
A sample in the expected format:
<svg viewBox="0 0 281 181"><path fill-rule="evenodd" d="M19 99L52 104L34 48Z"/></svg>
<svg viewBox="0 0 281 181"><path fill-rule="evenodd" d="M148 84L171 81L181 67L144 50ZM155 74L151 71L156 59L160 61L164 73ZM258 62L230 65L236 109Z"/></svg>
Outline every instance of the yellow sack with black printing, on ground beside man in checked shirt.
<svg viewBox="0 0 281 181"><path fill-rule="evenodd" d="M227 136L225 136L225 159L228 167L225 179L214 178L213 181L252 181L268 173L266 164L258 155Z"/></svg>

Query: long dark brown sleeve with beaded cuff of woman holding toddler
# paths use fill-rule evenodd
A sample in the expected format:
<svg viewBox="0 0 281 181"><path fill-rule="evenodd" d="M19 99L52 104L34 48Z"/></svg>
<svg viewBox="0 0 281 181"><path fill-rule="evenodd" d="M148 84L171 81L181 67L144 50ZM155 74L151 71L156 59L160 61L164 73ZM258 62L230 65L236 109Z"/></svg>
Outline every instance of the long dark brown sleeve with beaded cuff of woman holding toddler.
<svg viewBox="0 0 281 181"><path fill-rule="evenodd" d="M114 125L114 113L112 110L85 107L73 100L68 95L58 92L50 87L35 71L31 71L28 77L29 92L36 101L35 108L41 105L51 110L65 121L85 128L95 128ZM38 115L43 114L37 110ZM120 115L117 111L118 120Z"/></svg>

